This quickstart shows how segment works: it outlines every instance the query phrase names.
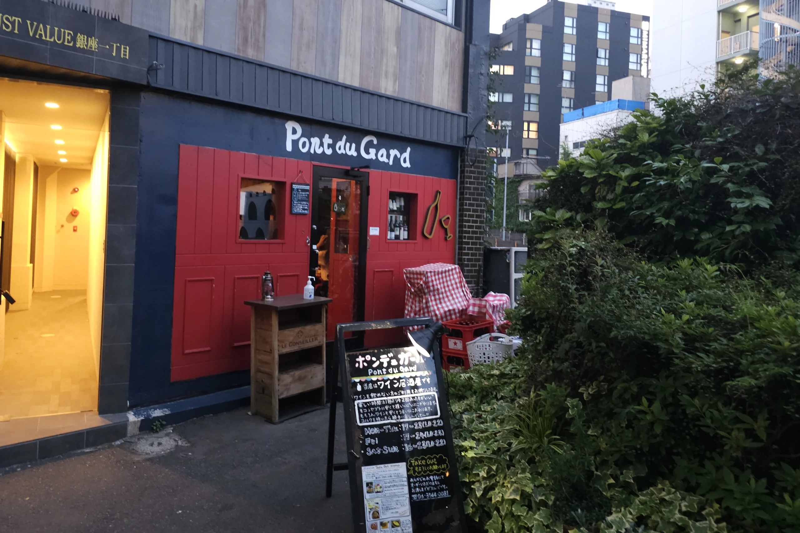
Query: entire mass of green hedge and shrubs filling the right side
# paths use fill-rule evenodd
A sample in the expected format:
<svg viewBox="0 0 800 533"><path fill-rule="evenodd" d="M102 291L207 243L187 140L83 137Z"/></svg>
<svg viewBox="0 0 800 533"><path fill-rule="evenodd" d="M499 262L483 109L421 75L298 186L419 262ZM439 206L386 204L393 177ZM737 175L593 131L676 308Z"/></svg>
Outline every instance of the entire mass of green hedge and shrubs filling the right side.
<svg viewBox="0 0 800 533"><path fill-rule="evenodd" d="M800 531L796 80L661 100L547 171L523 347L449 379L477 531Z"/></svg>

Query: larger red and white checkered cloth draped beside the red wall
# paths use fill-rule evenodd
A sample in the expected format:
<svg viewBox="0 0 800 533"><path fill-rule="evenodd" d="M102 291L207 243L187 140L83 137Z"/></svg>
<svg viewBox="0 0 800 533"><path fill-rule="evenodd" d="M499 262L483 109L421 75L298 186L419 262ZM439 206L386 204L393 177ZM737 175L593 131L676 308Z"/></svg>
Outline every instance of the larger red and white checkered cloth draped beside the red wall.
<svg viewBox="0 0 800 533"><path fill-rule="evenodd" d="M470 303L461 269L446 262L406 268L406 319L430 317L438 322L459 319Z"/></svg>

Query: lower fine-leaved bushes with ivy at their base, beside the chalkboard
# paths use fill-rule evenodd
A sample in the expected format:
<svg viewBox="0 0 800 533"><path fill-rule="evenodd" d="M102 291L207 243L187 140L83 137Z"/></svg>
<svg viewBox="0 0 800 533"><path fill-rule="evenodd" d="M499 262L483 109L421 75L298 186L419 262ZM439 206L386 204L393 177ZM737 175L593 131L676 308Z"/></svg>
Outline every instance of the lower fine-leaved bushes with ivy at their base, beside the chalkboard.
<svg viewBox="0 0 800 533"><path fill-rule="evenodd" d="M470 517L500 531L800 531L798 303L558 230L522 354L450 378Z"/></svg>

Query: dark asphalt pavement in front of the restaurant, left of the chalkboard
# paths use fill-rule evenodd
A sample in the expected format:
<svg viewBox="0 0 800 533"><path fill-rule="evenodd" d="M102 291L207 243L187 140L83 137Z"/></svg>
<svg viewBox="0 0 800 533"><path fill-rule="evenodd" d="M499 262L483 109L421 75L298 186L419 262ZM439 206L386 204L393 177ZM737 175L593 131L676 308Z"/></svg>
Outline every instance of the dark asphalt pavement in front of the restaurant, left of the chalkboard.
<svg viewBox="0 0 800 533"><path fill-rule="evenodd" d="M0 531L353 531L347 472L325 497L328 411L246 409L0 470ZM338 419L337 460L345 459Z"/></svg>

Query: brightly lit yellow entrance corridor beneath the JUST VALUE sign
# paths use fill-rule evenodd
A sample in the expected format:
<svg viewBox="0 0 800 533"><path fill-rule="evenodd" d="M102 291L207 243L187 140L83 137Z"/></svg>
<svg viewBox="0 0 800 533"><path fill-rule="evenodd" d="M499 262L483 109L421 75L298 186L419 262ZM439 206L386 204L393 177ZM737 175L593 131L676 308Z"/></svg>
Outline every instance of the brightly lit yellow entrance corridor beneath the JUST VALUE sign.
<svg viewBox="0 0 800 533"><path fill-rule="evenodd" d="M0 78L0 446L102 425L109 104Z"/></svg>

